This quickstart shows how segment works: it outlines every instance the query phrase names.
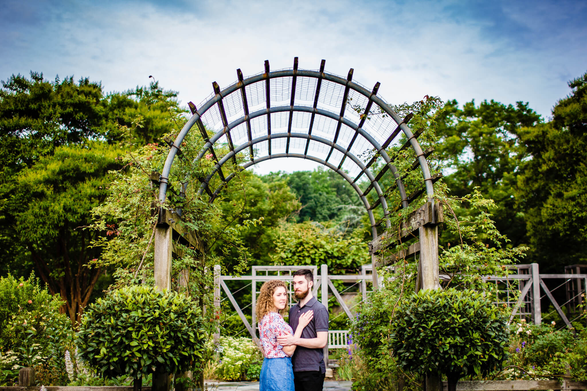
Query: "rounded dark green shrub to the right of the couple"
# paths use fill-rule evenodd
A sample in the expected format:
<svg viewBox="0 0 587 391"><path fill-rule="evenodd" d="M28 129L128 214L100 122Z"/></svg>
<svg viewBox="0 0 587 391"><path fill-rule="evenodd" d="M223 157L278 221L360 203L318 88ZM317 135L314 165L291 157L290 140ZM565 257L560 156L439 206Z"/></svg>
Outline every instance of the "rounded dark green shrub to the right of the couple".
<svg viewBox="0 0 587 391"><path fill-rule="evenodd" d="M507 315L481 293L422 290L400 301L390 345L398 364L422 374L458 379L501 368L507 358Z"/></svg>

